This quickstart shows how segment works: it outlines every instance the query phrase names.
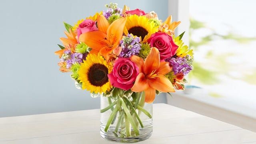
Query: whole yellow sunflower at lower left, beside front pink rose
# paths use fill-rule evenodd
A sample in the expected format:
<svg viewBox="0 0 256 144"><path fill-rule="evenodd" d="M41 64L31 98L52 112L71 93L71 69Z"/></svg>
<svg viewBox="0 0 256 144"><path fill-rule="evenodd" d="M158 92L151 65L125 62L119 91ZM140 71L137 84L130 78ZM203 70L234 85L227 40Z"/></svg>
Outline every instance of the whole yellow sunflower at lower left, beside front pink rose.
<svg viewBox="0 0 256 144"><path fill-rule="evenodd" d="M82 89L90 93L106 93L112 88L108 74L112 71L112 64L106 62L100 55L88 54L78 71L78 80L82 82Z"/></svg>

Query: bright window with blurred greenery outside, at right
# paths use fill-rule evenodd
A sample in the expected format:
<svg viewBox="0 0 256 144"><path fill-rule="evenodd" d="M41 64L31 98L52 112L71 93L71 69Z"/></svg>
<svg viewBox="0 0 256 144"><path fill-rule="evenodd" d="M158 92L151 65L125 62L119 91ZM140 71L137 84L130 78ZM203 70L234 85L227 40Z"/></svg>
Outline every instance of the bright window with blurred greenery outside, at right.
<svg viewBox="0 0 256 144"><path fill-rule="evenodd" d="M256 109L256 1L190 1L190 84Z"/></svg>

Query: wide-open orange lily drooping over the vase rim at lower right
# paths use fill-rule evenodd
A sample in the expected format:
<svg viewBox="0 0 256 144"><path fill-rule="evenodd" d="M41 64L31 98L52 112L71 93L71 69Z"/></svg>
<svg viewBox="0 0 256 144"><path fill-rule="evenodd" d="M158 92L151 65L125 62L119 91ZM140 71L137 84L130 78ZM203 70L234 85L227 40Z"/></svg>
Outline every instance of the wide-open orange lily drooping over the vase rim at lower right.
<svg viewBox="0 0 256 144"><path fill-rule="evenodd" d="M133 92L145 92L145 102L151 103L155 99L156 90L160 92L175 92L172 83L164 75L172 70L169 62L160 62L160 55L157 48L151 48L145 62L138 56L131 56L140 70Z"/></svg>

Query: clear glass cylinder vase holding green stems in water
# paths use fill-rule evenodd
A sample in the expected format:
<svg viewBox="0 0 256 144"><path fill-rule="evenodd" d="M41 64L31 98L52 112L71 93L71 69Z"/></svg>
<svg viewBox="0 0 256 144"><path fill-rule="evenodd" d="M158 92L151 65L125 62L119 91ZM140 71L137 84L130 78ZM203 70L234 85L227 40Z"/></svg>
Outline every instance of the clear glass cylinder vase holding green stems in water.
<svg viewBox="0 0 256 144"><path fill-rule="evenodd" d="M131 96L101 96L101 137L117 142L148 139L153 131L153 104L144 101L143 92L134 92Z"/></svg>

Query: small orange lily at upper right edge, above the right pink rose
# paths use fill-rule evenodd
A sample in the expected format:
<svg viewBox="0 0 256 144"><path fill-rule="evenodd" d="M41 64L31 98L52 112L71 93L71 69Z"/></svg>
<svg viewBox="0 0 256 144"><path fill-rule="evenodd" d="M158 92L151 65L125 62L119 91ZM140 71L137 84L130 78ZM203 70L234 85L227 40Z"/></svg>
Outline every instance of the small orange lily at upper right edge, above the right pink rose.
<svg viewBox="0 0 256 144"><path fill-rule="evenodd" d="M172 22L172 16L168 16L165 22L159 26L159 30L161 32L166 32L166 34L169 34L170 36L172 36L174 35L174 30L178 27L180 23L181 23L180 21Z"/></svg>

